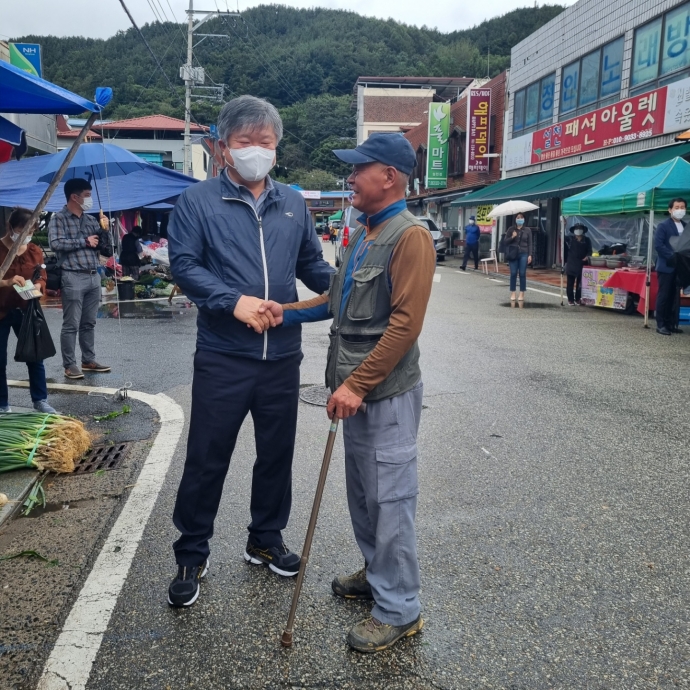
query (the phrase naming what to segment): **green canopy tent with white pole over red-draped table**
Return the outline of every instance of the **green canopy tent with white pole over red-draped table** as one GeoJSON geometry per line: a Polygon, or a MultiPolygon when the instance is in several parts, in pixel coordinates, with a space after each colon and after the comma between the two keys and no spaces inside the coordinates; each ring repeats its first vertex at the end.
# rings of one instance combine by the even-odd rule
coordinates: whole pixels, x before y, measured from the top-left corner
{"type": "MultiPolygon", "coordinates": [[[[564,216],[607,216],[619,213],[649,213],[647,243],[647,280],[645,289],[645,328],[649,324],[649,288],[651,285],[654,213],[664,212],[669,202],[690,190],[690,163],[683,158],[650,168],[628,166],[596,187],[565,199],[564,216]]],[[[561,237],[561,243],[564,238],[561,237]]]]}

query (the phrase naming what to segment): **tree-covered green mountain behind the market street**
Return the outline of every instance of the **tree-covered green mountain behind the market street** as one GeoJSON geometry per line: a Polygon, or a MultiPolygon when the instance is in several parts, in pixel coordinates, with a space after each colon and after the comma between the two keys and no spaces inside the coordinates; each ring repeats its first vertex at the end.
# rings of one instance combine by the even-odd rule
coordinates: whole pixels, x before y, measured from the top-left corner
{"type": "MultiPolygon", "coordinates": [[[[493,77],[509,66],[513,45],[563,9],[525,7],[471,29],[442,33],[343,10],[261,5],[241,17],[209,21],[203,33],[221,37],[197,38],[194,64],[204,67],[207,86],[226,85],[226,100],[251,93],[276,105],[285,123],[279,173],[300,181],[310,171],[311,188],[317,183],[329,188],[335,176],[346,172],[332,149],[354,145],[353,86],[359,76],[493,77]]],[[[50,81],[84,96],[97,86],[111,86],[107,118],[183,117],[179,68],[186,62],[186,26],[155,22],[143,26],[142,33],[167,79],[133,28],[105,40],[14,40],[43,46],[44,76],[50,81]]],[[[193,103],[192,114],[201,124],[211,124],[219,109],[220,104],[200,100],[193,103]]]]}

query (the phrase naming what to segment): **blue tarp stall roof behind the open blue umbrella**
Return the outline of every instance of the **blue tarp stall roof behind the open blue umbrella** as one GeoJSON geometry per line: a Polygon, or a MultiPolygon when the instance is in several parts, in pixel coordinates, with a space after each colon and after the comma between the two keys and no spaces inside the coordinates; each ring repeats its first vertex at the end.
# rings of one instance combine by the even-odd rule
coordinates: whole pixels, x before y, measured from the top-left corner
{"type": "MultiPolygon", "coordinates": [[[[60,154],[52,154],[57,156],[60,154]]],[[[38,182],[49,164],[50,156],[33,156],[0,165],[0,206],[35,208],[48,188],[38,182]]],[[[193,177],[158,165],[143,163],[143,168],[129,175],[92,180],[94,208],[125,211],[151,204],[175,203],[177,197],[197,182],[193,177]]],[[[59,211],[65,205],[63,184],[48,201],[46,211],[59,211]]]]}

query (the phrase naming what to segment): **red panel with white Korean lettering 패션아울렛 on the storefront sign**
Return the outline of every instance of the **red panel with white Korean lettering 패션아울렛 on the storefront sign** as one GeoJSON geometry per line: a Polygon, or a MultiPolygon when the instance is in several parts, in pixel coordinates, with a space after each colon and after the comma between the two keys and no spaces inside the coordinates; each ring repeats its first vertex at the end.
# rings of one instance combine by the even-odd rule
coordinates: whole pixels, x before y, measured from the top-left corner
{"type": "Polygon", "coordinates": [[[664,133],[667,87],[534,132],[532,165],[664,133]]]}

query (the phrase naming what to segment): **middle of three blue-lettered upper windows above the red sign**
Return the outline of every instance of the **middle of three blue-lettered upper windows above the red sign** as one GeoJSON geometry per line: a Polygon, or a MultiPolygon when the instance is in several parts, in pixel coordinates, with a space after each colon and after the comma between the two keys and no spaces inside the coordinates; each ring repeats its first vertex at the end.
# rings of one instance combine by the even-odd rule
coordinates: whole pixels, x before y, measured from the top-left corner
{"type": "Polygon", "coordinates": [[[561,74],[560,119],[580,115],[612,103],[621,91],[621,36],[566,65],[561,74]]]}

